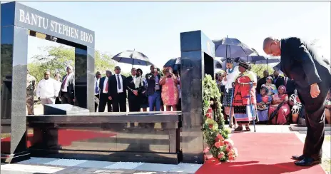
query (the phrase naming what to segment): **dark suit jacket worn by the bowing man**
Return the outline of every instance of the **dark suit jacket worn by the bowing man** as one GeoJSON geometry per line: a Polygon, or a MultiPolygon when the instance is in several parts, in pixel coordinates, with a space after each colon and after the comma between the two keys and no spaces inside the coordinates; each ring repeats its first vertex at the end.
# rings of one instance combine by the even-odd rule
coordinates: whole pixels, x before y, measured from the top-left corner
{"type": "MultiPolygon", "coordinates": [[[[330,83],[330,66],[299,38],[281,41],[280,70],[293,79],[297,89],[308,88],[313,83],[330,83]]],[[[329,87],[330,88],[330,87],[329,87]]]]}

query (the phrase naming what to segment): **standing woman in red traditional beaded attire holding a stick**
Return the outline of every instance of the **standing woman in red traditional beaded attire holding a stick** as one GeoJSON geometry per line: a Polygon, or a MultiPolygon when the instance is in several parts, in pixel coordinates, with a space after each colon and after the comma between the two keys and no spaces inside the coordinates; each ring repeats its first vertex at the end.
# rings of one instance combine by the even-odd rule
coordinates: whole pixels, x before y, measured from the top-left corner
{"type": "Polygon", "coordinates": [[[240,61],[240,73],[234,82],[233,108],[235,120],[238,123],[238,128],[235,128],[235,131],[243,131],[243,125],[245,125],[246,131],[250,131],[249,123],[256,118],[255,87],[257,79],[252,71],[247,70],[249,67],[249,63],[240,61]]]}

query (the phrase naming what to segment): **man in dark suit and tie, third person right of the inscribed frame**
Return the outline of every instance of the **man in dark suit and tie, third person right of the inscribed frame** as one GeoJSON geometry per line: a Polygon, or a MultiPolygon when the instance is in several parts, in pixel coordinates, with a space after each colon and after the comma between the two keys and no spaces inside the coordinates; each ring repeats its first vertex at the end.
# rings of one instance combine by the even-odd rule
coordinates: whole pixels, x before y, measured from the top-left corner
{"type": "Polygon", "coordinates": [[[108,98],[113,103],[113,112],[126,112],[126,76],[121,75],[119,66],[114,71],[108,79],[108,98]]]}

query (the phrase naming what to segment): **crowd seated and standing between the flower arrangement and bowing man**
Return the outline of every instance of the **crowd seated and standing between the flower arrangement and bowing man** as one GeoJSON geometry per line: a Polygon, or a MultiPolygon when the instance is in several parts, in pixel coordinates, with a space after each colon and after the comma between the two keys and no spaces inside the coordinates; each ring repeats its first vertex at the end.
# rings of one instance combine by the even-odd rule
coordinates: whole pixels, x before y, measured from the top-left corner
{"type": "MultiPolygon", "coordinates": [[[[249,71],[250,64],[239,61],[234,66],[233,58],[227,58],[226,71],[216,74],[216,82],[222,93],[223,114],[231,128],[242,131],[243,125],[250,131],[248,123],[284,125],[298,123],[305,118],[305,110],[295,89],[295,83],[278,71],[269,75],[263,72],[260,78],[249,71]],[[257,116],[257,118],[255,118],[257,116]]],[[[330,124],[331,94],[325,107],[325,121],[330,124]]]]}

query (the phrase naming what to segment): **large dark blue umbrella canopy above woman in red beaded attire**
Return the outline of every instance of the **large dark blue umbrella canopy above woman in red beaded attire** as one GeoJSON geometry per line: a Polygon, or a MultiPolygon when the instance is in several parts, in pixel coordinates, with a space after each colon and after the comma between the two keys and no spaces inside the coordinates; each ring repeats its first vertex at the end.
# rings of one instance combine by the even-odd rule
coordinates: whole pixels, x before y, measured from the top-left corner
{"type": "Polygon", "coordinates": [[[254,53],[252,48],[234,38],[226,37],[215,40],[213,43],[215,44],[215,56],[217,57],[245,57],[254,53]]]}

